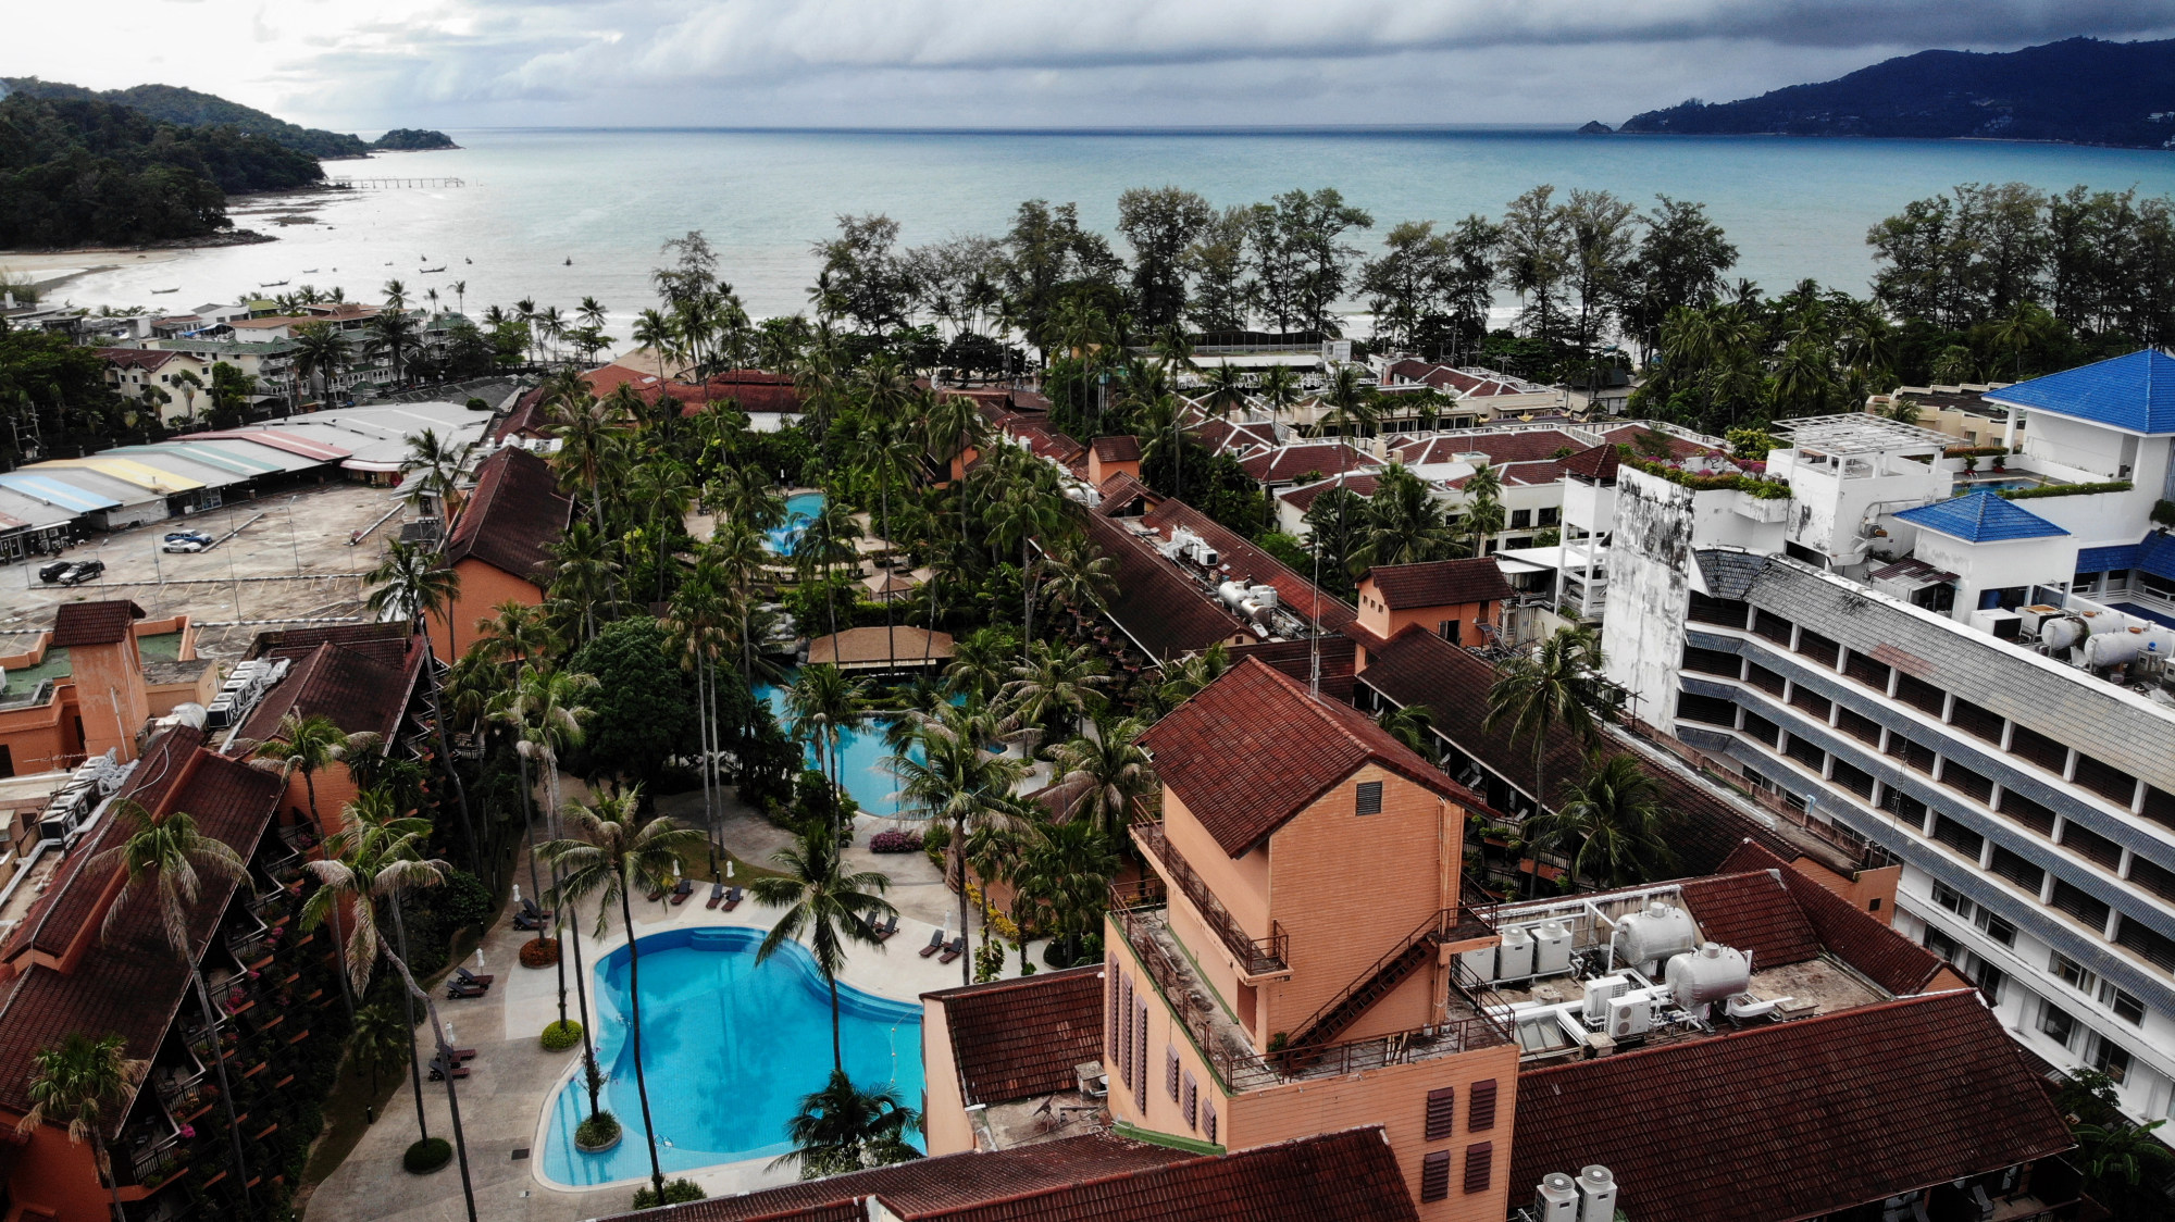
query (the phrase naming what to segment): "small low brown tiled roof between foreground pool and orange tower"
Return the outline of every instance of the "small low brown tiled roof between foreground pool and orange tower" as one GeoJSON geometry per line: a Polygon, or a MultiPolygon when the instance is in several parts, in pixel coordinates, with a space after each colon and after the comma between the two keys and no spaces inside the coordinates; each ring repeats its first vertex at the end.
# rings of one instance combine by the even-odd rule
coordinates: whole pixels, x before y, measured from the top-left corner
{"type": "Polygon", "coordinates": [[[1077,1089],[1072,1068],[1103,1059],[1103,968],[1044,972],[922,994],[944,1002],[959,1094],[1011,1102],[1077,1089]]]}

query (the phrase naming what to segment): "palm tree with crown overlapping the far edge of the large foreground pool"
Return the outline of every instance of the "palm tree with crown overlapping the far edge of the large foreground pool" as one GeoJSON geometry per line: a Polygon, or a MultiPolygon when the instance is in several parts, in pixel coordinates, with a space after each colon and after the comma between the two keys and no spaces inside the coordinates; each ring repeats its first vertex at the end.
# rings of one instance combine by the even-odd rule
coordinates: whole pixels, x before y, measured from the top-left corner
{"type": "Polygon", "coordinates": [[[846,946],[874,946],[883,950],[874,924],[896,915],[883,891],[892,878],[874,870],[846,870],[840,859],[837,831],[809,820],[794,835],[792,848],[770,855],[776,874],[761,874],[748,883],[755,902],[768,909],[785,909],[776,924],[755,948],[755,963],[776,955],[779,946],[807,935],[809,955],[816,959],[816,974],[831,989],[831,1068],[846,1072],[846,1052],[837,1031],[837,974],[846,970],[846,946]]]}

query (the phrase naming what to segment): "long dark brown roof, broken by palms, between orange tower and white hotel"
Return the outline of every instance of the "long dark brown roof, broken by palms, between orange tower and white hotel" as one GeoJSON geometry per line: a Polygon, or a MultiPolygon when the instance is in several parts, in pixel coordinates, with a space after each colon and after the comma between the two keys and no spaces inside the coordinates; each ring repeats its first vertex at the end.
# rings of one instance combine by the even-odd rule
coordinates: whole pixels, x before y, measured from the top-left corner
{"type": "MultiPolygon", "coordinates": [[[[1481,768],[1503,776],[1518,789],[1531,789],[1533,744],[1529,739],[1514,744],[1503,728],[1481,728],[1481,722],[1488,718],[1488,687],[1494,685],[1494,665],[1486,659],[1444,641],[1420,624],[1412,624],[1396,639],[1368,646],[1368,665],[1359,672],[1359,683],[1399,704],[1427,704],[1433,713],[1435,731],[1451,739],[1457,750],[1477,759],[1481,768]]],[[[1549,737],[1546,805],[1555,807],[1562,802],[1564,787],[1583,776],[1583,772],[1586,752],[1564,735],[1549,737]]],[[[1646,772],[1662,787],[1662,807],[1673,815],[1668,844],[1677,855],[1677,865],[1686,874],[1716,872],[1723,859],[1747,837],[1781,852],[1797,852],[1766,826],[1677,772],[1660,765],[1649,765],[1646,772]]],[[[1755,868],[1742,865],[1740,870],[1755,868]]]]}

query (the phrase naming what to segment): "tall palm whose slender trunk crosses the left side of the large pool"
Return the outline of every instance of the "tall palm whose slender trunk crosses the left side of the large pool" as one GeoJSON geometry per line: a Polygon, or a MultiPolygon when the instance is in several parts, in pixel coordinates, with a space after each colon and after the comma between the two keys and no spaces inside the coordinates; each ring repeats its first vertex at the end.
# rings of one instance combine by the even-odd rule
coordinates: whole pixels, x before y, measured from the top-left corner
{"type": "Polygon", "coordinates": [[[681,852],[703,841],[703,833],[683,828],[670,818],[655,818],[635,824],[642,807],[642,787],[629,785],[618,794],[602,794],[587,807],[570,807],[574,835],[537,846],[537,855],[559,870],[559,883],[550,889],[552,909],[598,900],[596,935],[602,937],[609,924],[613,900],[620,905],[620,926],[626,931],[626,1002],[629,1037],[635,1057],[635,1094],[642,1098],[642,1135],[650,1144],[650,1183],[663,1200],[666,1172],[657,1163],[657,1126],[650,1124],[650,1085],[642,1070],[642,946],[635,939],[633,891],[670,885],[672,868],[681,852]]]}

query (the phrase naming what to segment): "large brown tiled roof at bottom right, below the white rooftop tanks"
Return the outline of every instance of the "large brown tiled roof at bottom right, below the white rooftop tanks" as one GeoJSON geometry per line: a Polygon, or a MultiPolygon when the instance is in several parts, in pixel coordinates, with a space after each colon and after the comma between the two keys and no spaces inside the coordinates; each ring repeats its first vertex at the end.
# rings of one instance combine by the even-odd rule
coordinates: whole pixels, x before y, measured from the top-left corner
{"type": "Polygon", "coordinates": [[[1518,1074],[1509,1183],[1601,1163],[1640,1222],[1790,1220],[2071,1144],[1953,992],[1518,1074]]]}

